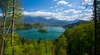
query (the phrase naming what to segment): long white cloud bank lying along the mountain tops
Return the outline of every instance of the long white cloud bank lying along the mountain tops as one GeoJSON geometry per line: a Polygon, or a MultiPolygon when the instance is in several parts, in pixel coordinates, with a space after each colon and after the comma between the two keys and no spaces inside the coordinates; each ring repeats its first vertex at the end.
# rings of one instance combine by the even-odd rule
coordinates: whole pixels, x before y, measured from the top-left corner
{"type": "MultiPolygon", "coordinates": [[[[24,15],[28,15],[31,17],[37,17],[41,16],[46,19],[58,19],[58,20],[66,20],[66,21],[73,21],[75,19],[81,19],[81,20],[89,20],[92,16],[92,13],[90,14],[79,14],[79,15],[72,15],[72,16],[66,16],[63,14],[64,12],[58,12],[58,13],[52,13],[52,12],[42,12],[42,11],[37,11],[37,12],[23,12],[24,15]]],[[[77,13],[77,12],[76,12],[77,13]]]]}

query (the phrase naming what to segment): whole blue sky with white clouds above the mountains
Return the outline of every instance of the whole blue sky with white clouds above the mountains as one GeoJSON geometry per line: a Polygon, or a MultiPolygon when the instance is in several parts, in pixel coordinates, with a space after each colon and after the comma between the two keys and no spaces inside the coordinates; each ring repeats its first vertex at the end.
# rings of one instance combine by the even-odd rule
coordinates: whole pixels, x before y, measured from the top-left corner
{"type": "Polygon", "coordinates": [[[93,14],[92,0],[24,0],[22,4],[23,14],[31,17],[73,21],[91,20],[93,14]]]}

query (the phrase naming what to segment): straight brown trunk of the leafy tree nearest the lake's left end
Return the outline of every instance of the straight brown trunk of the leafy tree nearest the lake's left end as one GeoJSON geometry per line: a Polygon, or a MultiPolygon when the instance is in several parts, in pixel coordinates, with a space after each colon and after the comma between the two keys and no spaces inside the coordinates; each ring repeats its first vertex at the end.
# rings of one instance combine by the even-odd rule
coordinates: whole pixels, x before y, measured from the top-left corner
{"type": "MultiPolygon", "coordinates": [[[[12,35],[11,35],[11,46],[13,47],[13,36],[14,36],[14,20],[15,20],[15,0],[13,1],[13,16],[12,16],[12,35]]],[[[14,49],[12,49],[12,54],[15,55],[14,49]]]]}

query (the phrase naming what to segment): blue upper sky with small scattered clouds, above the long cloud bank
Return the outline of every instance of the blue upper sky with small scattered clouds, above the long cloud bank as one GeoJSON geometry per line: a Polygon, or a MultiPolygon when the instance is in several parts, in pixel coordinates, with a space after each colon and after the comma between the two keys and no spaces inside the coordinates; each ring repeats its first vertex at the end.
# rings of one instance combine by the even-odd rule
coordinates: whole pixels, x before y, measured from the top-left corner
{"type": "Polygon", "coordinates": [[[26,6],[25,10],[29,12],[36,12],[36,11],[56,12],[57,11],[56,9],[61,9],[61,8],[63,8],[62,11],[69,9],[80,10],[80,8],[77,7],[81,5],[81,2],[82,2],[81,0],[25,0],[24,5],[26,6]],[[63,3],[61,4],[60,2],[63,3],[66,2],[66,4],[63,3]]]}

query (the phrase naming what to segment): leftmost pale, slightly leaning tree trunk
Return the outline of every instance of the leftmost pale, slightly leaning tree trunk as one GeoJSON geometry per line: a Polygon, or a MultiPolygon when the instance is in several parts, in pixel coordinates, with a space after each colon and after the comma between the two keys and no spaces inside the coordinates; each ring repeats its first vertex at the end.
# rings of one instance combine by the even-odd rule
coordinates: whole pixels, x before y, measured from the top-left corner
{"type": "MultiPolygon", "coordinates": [[[[3,1],[3,2],[6,2],[6,1],[3,1]]],[[[8,16],[8,11],[9,11],[9,3],[10,1],[7,3],[7,5],[5,6],[2,6],[2,11],[3,11],[3,33],[2,33],[2,46],[1,46],[1,55],[3,54],[3,48],[4,48],[4,53],[5,53],[5,26],[6,26],[6,19],[7,19],[7,16],[8,16]],[[3,7],[5,7],[6,9],[4,9],[3,7]]],[[[2,4],[2,3],[1,3],[2,4]]]]}

